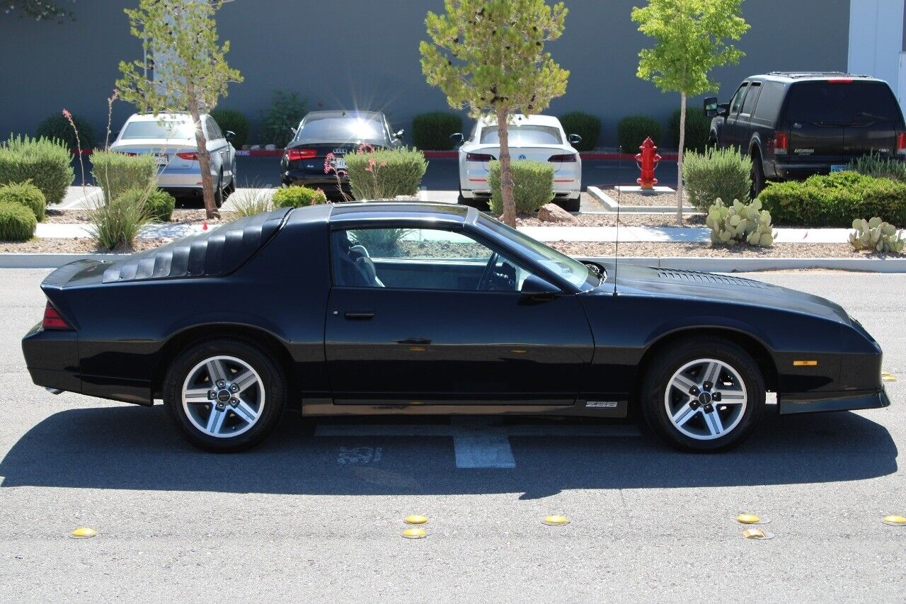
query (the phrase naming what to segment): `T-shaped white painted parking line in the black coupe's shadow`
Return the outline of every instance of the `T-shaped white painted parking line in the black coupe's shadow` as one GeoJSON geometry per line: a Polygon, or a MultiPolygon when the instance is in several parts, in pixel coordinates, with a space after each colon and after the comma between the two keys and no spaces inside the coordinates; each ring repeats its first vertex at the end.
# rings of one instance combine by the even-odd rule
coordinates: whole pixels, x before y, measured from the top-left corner
{"type": "Polygon", "coordinates": [[[641,436],[633,424],[602,425],[490,425],[473,417],[452,417],[440,424],[323,424],[315,436],[446,436],[453,438],[458,468],[515,468],[510,436],[593,436],[599,438],[641,436]]]}

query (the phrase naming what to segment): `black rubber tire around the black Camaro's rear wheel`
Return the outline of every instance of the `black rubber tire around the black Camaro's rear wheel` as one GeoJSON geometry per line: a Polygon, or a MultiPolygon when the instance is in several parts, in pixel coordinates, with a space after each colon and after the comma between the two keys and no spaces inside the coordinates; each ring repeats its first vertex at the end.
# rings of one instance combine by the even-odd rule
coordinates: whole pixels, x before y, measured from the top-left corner
{"type": "MultiPolygon", "coordinates": [[[[229,380],[229,376],[238,377],[242,375],[241,371],[233,373],[230,365],[223,366],[226,366],[227,380],[229,380]]],[[[236,367],[238,365],[232,366],[236,367]]],[[[206,388],[206,381],[209,380],[210,376],[206,375],[200,382],[195,382],[195,384],[206,388]]],[[[217,389],[217,385],[213,387],[215,390],[217,389]]],[[[230,382],[227,381],[226,389],[228,390],[229,387],[230,382]]],[[[247,390],[244,392],[247,392],[247,390]]],[[[255,446],[255,444],[263,441],[268,434],[274,431],[284,414],[286,382],[279,365],[275,363],[271,356],[257,347],[237,340],[214,339],[191,346],[174,359],[164,380],[163,395],[164,404],[167,407],[170,418],[179,427],[189,443],[206,451],[232,453],[255,446]],[[224,414],[225,419],[218,424],[222,426],[219,429],[225,433],[231,429],[240,430],[241,432],[236,436],[214,436],[208,434],[193,423],[193,418],[189,417],[187,407],[192,409],[194,414],[197,414],[194,417],[194,422],[205,421],[206,414],[209,419],[210,414],[215,411],[216,398],[210,404],[206,404],[205,401],[198,398],[198,404],[183,405],[183,386],[186,385],[190,374],[198,375],[197,371],[207,373],[206,369],[197,369],[198,366],[204,361],[216,357],[237,359],[251,367],[257,377],[260,378],[260,383],[255,382],[254,385],[250,386],[255,388],[255,392],[242,397],[247,399],[250,404],[256,405],[256,410],[259,414],[254,422],[243,420],[238,414],[238,410],[234,411],[231,408],[235,405],[226,403],[226,401],[223,403],[225,409],[221,413],[224,414]],[[262,395],[262,398],[258,398],[262,395]],[[248,424],[250,424],[250,427],[246,427],[248,424]]]]}

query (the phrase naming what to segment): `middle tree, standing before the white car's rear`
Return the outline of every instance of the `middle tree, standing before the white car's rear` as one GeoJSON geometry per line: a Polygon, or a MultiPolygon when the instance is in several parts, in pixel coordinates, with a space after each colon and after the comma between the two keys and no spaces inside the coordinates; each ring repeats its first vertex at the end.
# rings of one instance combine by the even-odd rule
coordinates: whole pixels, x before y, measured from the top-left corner
{"type": "Polygon", "coordinates": [[[421,70],[450,107],[496,116],[503,221],[515,227],[508,122],[516,112],[544,111],[566,92],[569,72],[545,53],[545,42],[563,34],[567,11],[544,0],[444,0],[444,8],[425,19],[431,42],[419,44],[421,70]]]}

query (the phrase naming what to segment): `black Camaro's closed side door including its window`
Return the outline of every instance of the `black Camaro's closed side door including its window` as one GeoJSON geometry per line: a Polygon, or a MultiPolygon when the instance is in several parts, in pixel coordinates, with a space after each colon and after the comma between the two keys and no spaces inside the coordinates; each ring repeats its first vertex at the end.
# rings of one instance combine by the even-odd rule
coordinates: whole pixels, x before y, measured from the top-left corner
{"type": "Polygon", "coordinates": [[[334,404],[574,403],[593,356],[574,294],[524,294],[536,276],[458,229],[337,229],[332,253],[334,404]]]}

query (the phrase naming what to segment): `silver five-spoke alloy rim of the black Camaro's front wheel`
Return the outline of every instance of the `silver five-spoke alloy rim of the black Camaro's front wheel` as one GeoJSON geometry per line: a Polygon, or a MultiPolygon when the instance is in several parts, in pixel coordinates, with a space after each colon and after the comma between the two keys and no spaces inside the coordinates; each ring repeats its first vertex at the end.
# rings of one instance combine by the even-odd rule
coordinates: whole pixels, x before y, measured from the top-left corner
{"type": "Polygon", "coordinates": [[[712,441],[737,427],[746,413],[746,384],[737,370],[713,358],[689,361],[664,392],[667,416],[681,434],[712,441]]]}

